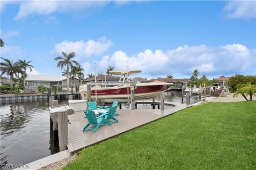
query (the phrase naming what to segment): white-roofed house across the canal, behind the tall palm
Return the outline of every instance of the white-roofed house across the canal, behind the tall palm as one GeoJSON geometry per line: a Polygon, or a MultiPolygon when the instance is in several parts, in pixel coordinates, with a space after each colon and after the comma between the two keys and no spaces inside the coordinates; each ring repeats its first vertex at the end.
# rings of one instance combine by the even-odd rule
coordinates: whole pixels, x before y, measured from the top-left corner
{"type": "MultiPolygon", "coordinates": [[[[71,85],[80,86],[83,80],[79,80],[77,77],[69,77],[69,89],[71,85]]],[[[62,89],[67,89],[67,77],[53,76],[53,75],[31,75],[28,74],[26,78],[26,89],[37,89],[39,85],[43,85],[47,88],[52,85],[58,85],[62,89]]]]}

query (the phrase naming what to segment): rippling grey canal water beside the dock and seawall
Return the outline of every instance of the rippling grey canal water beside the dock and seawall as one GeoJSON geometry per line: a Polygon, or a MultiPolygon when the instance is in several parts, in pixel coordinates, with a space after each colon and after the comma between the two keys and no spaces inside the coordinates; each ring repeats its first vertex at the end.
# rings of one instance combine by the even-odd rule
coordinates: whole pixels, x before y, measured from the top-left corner
{"type": "MultiPolygon", "coordinates": [[[[168,91],[164,96],[165,101],[181,103],[180,91],[168,91]]],[[[190,98],[191,103],[197,100],[198,97],[190,98]]],[[[59,104],[67,104],[67,100],[59,104]]],[[[48,107],[47,101],[0,106],[1,169],[27,164],[59,151],[52,145],[48,107]]]]}

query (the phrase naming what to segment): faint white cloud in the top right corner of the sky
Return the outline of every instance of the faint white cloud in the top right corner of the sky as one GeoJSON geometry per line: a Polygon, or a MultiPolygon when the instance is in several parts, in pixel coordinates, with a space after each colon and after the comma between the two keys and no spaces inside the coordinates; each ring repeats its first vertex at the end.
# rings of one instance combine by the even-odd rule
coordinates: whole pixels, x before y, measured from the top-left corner
{"type": "Polygon", "coordinates": [[[256,1],[229,1],[223,12],[227,19],[249,20],[256,17],[256,1]]]}

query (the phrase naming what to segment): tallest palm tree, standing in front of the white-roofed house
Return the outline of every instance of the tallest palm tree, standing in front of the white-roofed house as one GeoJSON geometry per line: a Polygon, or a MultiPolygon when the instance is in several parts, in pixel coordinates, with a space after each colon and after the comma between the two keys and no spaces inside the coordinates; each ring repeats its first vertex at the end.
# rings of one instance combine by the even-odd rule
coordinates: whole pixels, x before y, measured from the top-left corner
{"type": "Polygon", "coordinates": [[[78,63],[75,60],[72,60],[75,57],[75,52],[66,54],[62,52],[62,56],[55,57],[54,60],[57,61],[57,67],[63,69],[64,66],[67,66],[67,91],[69,91],[69,67],[73,66],[73,64],[78,63]]]}

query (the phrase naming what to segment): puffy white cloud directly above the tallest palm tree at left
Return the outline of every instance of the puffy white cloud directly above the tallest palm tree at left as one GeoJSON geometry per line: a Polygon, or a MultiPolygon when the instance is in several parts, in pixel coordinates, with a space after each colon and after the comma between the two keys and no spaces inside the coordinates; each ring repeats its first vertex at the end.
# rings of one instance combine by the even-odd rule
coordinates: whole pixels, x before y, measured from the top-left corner
{"type": "Polygon", "coordinates": [[[61,54],[62,52],[75,52],[78,60],[89,58],[92,55],[99,55],[106,52],[113,45],[111,40],[106,37],[101,37],[97,41],[92,39],[84,42],[80,41],[62,41],[55,45],[54,53],[61,54]]]}

